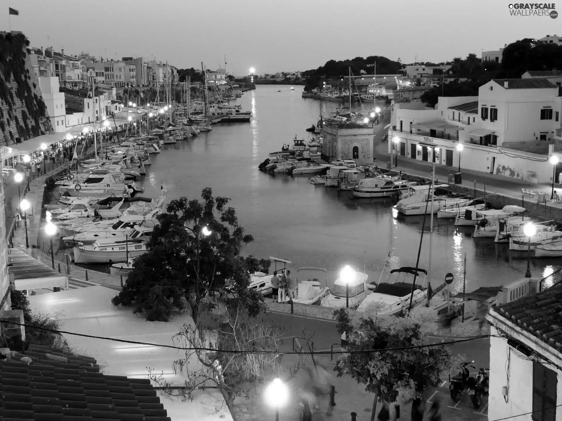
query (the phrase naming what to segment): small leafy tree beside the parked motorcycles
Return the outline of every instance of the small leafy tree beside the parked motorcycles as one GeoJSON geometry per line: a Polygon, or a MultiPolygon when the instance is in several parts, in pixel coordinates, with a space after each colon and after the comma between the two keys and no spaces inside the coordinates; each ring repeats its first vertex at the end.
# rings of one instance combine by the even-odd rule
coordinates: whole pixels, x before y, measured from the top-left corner
{"type": "Polygon", "coordinates": [[[443,346],[424,345],[425,334],[420,323],[394,316],[380,316],[376,312],[338,309],[334,312],[337,329],[346,333],[346,351],[339,356],[338,377],[350,374],[365,390],[374,393],[374,420],[377,401],[391,404],[398,393],[411,390],[414,399],[422,396],[426,386],[437,386],[443,370],[452,365],[450,351],[443,346]],[[412,347],[401,350],[369,351],[412,347]],[[362,351],[354,353],[353,351],[362,351]]]}

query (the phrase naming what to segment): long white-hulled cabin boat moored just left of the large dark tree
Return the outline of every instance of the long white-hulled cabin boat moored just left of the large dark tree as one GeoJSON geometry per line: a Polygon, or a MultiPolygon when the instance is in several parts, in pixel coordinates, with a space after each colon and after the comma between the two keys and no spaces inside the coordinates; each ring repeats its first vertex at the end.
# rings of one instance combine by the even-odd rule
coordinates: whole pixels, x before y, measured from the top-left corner
{"type": "Polygon", "coordinates": [[[128,258],[146,253],[146,245],[146,241],[128,239],[100,239],[93,244],[79,244],[73,248],[74,263],[126,262],[128,258]]]}

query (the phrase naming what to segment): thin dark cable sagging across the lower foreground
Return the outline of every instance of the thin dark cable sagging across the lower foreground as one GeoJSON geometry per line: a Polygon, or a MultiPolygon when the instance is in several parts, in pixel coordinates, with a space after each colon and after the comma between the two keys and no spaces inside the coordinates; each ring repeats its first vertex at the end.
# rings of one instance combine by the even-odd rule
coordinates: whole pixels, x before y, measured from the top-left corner
{"type": "MultiPolygon", "coordinates": [[[[26,324],[26,323],[16,323],[8,320],[0,319],[2,323],[11,323],[15,324],[16,326],[24,326],[29,328],[34,328],[46,332],[52,333],[61,333],[65,335],[74,335],[74,336],[81,336],[85,338],[92,338],[92,339],[102,339],[106,341],[114,341],[114,342],[123,342],[125,344],[134,344],[134,345],[146,345],[146,346],[157,346],[162,348],[171,348],[176,350],[182,351],[211,351],[211,352],[220,352],[220,353],[228,353],[228,354],[253,354],[253,355],[260,355],[260,354],[282,354],[282,355],[302,355],[302,354],[314,354],[314,355],[324,355],[324,354],[363,354],[363,353],[383,353],[386,351],[402,351],[402,350],[409,350],[409,349],[420,349],[420,348],[427,348],[430,346],[441,346],[441,345],[450,345],[450,344],[459,344],[460,342],[468,342],[474,341],[477,339],[488,338],[491,335],[480,335],[474,336],[466,339],[459,339],[454,341],[448,342],[438,342],[437,344],[424,344],[424,345],[414,345],[414,346],[401,346],[395,348],[383,348],[383,349],[366,349],[360,351],[239,351],[239,350],[227,350],[227,349],[214,349],[214,348],[206,348],[206,347],[184,347],[184,346],[175,346],[175,345],[164,345],[164,344],[151,344],[150,342],[139,342],[139,341],[128,341],[125,339],[119,338],[110,338],[107,336],[95,336],[95,335],[86,335],[85,333],[76,333],[76,332],[68,332],[68,331],[61,331],[56,329],[48,329],[46,327],[39,327],[34,326],[33,324],[26,324]]],[[[496,335],[493,335],[496,336],[496,335]]]]}

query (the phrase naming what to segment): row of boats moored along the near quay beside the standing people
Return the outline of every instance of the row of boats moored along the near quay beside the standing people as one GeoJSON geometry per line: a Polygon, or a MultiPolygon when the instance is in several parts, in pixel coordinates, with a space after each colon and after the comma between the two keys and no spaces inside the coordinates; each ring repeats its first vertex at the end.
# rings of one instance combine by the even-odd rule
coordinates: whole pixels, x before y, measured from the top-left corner
{"type": "MultiPolygon", "coordinates": [[[[270,257],[275,271],[282,275],[287,271],[289,260],[270,257]]],[[[324,268],[302,267],[296,271],[297,290],[294,302],[316,304],[330,308],[342,308],[347,304],[351,308],[369,310],[376,308],[378,314],[400,315],[407,312],[428,298],[427,271],[402,267],[393,269],[384,281],[369,282],[366,273],[353,272],[351,279],[338,278],[332,287],[327,283],[328,271],[324,268]],[[413,294],[412,294],[412,291],[413,294]]],[[[253,273],[250,288],[262,295],[269,295],[273,285],[273,275],[253,273]]],[[[289,297],[286,299],[290,300],[289,297]]]]}

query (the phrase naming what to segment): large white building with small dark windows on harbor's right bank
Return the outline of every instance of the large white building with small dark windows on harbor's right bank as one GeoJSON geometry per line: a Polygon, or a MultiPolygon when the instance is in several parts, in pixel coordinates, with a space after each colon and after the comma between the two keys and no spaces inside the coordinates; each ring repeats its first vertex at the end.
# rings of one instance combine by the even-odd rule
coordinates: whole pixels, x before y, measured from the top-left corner
{"type": "Polygon", "coordinates": [[[546,79],[492,80],[478,97],[439,98],[433,110],[399,106],[393,106],[391,133],[398,143],[389,142],[389,153],[450,167],[461,159],[469,170],[552,181],[547,159],[562,145],[562,97],[546,79]]]}

